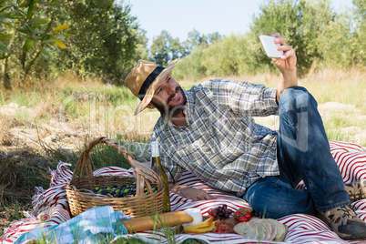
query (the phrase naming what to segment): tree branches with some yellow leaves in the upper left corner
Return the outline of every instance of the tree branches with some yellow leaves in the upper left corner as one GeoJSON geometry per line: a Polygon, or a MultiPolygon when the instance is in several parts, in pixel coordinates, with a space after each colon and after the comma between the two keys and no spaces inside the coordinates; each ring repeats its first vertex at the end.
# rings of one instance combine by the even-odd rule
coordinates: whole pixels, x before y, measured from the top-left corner
{"type": "Polygon", "coordinates": [[[58,0],[0,1],[0,58],[6,89],[12,88],[15,76],[25,81],[41,53],[50,57],[55,46],[66,47],[62,31],[68,25],[56,26],[54,21],[59,5],[58,0]]]}

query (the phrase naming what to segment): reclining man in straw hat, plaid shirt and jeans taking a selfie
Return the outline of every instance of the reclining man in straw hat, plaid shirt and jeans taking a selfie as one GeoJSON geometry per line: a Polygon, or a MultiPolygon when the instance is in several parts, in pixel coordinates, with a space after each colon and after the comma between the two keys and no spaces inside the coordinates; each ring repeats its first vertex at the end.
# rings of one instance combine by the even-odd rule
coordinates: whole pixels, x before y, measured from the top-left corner
{"type": "Polygon", "coordinates": [[[160,111],[151,139],[160,144],[169,189],[185,198],[212,199],[174,185],[188,170],[214,188],[243,196],[262,216],[317,215],[342,239],[366,239],[366,223],[350,208],[317,103],[298,86],[295,50],[279,33],[272,36],[284,52],[272,58],[280,69],[274,88],[216,79],[186,91],[171,76],[176,60],[166,68],[140,60],[127,76],[125,85],[141,99],[135,114],[145,107],[160,111]],[[275,114],[279,131],[252,118],[275,114]],[[307,188],[295,189],[301,179],[307,188]]]}

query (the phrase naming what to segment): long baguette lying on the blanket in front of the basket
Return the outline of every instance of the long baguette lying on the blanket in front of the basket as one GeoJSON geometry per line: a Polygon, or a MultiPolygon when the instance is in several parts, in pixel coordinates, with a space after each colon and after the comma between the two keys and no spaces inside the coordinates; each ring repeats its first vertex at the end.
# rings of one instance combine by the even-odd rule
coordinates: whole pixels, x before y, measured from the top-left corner
{"type": "Polygon", "coordinates": [[[144,230],[159,229],[162,227],[172,227],[193,222],[193,218],[186,212],[168,212],[155,216],[137,217],[124,220],[122,224],[128,233],[135,233],[144,230]]]}

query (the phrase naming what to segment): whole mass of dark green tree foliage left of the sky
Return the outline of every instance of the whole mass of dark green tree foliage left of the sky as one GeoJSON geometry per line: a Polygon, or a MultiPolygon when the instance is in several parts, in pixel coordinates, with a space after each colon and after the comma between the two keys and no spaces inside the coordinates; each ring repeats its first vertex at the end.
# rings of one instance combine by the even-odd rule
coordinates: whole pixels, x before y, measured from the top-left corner
{"type": "Polygon", "coordinates": [[[24,84],[30,77],[37,86],[67,70],[121,85],[147,56],[146,43],[123,1],[0,0],[0,57],[8,89],[14,80],[24,84]]]}

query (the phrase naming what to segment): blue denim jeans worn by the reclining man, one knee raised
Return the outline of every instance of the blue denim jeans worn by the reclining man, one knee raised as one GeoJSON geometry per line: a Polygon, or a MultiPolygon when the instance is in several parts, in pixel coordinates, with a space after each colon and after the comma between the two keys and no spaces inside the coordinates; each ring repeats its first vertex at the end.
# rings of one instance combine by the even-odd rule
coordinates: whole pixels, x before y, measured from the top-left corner
{"type": "Polygon", "coordinates": [[[247,189],[243,198],[250,207],[278,219],[350,205],[314,97],[300,86],[286,89],[280,96],[279,115],[280,176],[260,178],[247,189]],[[301,179],[306,189],[295,189],[301,179]]]}

